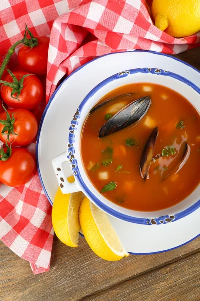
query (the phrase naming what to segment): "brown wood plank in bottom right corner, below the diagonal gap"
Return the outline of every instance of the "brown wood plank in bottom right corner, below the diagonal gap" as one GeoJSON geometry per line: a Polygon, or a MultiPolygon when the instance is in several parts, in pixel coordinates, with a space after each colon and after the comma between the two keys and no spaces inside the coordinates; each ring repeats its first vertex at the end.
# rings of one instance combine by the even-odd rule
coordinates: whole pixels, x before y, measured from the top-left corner
{"type": "Polygon", "coordinates": [[[199,301],[200,253],[81,301],[199,301]]]}

